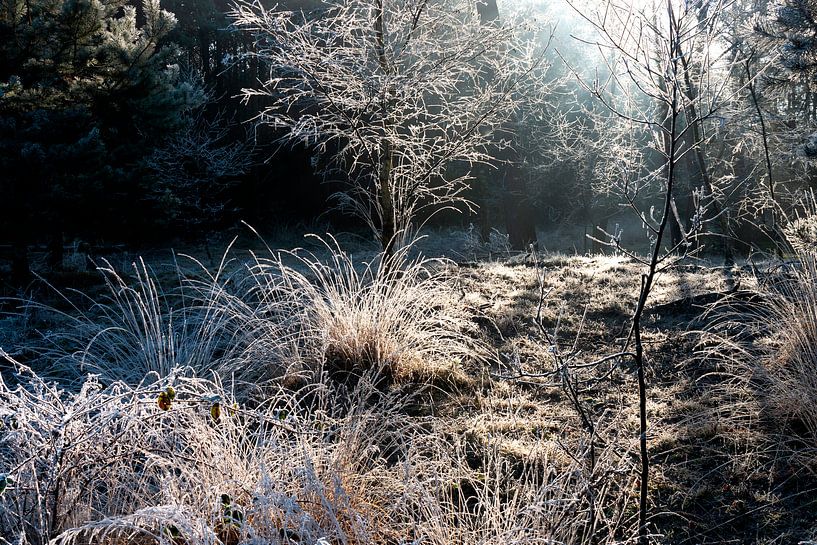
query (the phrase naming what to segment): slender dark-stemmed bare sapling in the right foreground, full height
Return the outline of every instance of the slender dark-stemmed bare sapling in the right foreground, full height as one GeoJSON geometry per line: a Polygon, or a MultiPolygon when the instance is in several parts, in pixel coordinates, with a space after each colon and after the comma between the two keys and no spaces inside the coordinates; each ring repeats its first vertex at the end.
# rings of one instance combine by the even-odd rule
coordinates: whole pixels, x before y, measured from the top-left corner
{"type": "MultiPolygon", "coordinates": [[[[708,172],[705,161],[701,161],[706,128],[728,98],[726,80],[709,77],[711,66],[707,62],[722,7],[718,0],[706,6],[701,2],[663,0],[653,9],[636,9],[629,2],[607,0],[597,9],[576,8],[597,31],[598,37],[590,43],[599,48],[609,74],[604,80],[587,82],[587,89],[610,112],[652,134],[653,153],[660,157],[655,169],[632,165],[623,169],[629,175],[620,188],[625,206],[647,230],[647,255],[623,248],[617,233],[607,233],[609,239],[603,241],[643,263],[645,269],[630,333],[618,352],[621,359],[633,360],[637,372],[641,457],[638,537],[642,545],[649,541],[650,519],[647,355],[642,318],[657,275],[691,251],[694,239],[704,232],[706,224],[719,222],[723,213],[707,212],[708,207],[717,208],[713,206],[709,179],[702,180],[702,186],[694,192],[691,217],[681,218],[675,203],[678,167],[687,155],[694,154],[702,174],[708,172]],[[681,236],[678,242],[667,244],[667,231],[673,222],[681,236]]],[[[632,160],[621,158],[624,164],[632,160]]],[[[640,162],[641,158],[635,160],[640,162]]]]}

